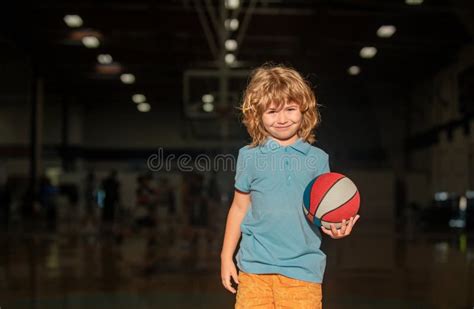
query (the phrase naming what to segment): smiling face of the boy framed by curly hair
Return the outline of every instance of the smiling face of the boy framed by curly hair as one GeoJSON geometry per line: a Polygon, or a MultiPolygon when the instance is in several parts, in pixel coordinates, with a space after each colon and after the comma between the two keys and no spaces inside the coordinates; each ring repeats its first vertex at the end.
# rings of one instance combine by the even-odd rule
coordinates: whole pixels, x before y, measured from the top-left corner
{"type": "Polygon", "coordinates": [[[262,115],[265,130],[280,142],[291,144],[298,138],[303,115],[295,102],[289,102],[279,109],[272,103],[262,115]]]}

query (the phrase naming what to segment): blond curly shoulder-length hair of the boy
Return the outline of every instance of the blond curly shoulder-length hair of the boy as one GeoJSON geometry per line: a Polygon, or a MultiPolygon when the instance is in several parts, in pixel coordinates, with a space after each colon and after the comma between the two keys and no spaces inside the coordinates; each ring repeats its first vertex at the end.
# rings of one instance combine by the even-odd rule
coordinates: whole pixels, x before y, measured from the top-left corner
{"type": "Polygon", "coordinates": [[[303,115],[298,136],[313,143],[320,115],[309,83],[296,70],[283,65],[264,64],[251,73],[240,107],[242,122],[252,137],[251,146],[261,145],[268,136],[262,123],[265,110],[272,103],[279,109],[289,102],[298,104],[303,115]]]}

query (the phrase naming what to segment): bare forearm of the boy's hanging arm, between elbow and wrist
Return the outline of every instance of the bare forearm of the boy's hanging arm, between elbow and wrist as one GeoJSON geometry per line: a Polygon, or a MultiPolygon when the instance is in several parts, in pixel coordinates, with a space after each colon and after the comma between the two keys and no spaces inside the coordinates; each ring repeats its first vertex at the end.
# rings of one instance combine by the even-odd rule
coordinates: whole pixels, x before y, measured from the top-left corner
{"type": "Polygon", "coordinates": [[[240,224],[245,217],[246,209],[232,206],[227,215],[227,223],[222,246],[221,259],[232,259],[235,248],[239,242],[241,231],[240,224]]]}

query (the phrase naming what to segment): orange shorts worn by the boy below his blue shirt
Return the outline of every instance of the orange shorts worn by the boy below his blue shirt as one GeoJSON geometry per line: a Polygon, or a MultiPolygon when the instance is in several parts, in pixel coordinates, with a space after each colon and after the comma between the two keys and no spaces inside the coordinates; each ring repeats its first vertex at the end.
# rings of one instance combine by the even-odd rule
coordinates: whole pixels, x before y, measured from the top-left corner
{"type": "Polygon", "coordinates": [[[236,309],[321,309],[320,283],[301,281],[278,274],[239,273],[236,309]]]}

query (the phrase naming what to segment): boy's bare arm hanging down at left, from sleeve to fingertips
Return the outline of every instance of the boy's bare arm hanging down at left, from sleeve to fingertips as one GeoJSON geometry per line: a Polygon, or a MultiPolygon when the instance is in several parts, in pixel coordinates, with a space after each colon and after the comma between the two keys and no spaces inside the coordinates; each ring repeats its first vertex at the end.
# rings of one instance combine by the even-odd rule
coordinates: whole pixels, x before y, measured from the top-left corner
{"type": "Polygon", "coordinates": [[[237,269],[233,256],[237,243],[239,242],[241,231],[240,224],[250,206],[250,194],[235,190],[234,199],[227,215],[224,243],[221,252],[221,278],[224,287],[232,293],[236,290],[232,287],[231,277],[235,283],[239,284],[237,269]]]}

